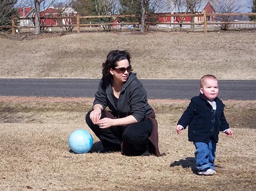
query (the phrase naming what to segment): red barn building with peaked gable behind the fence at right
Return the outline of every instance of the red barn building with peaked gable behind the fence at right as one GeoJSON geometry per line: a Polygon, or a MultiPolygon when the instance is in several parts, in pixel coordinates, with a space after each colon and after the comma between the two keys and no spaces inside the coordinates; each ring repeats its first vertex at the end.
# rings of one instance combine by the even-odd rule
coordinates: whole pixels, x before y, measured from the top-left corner
{"type": "MultiPolygon", "coordinates": [[[[211,6],[211,4],[209,2],[205,2],[202,3],[201,6],[198,8],[197,13],[196,14],[202,14],[203,12],[206,13],[214,13],[214,8],[211,6]]],[[[162,23],[180,23],[180,20],[183,19],[183,23],[190,23],[191,21],[191,17],[179,17],[179,16],[174,16],[173,18],[171,18],[170,16],[165,16],[167,14],[171,14],[169,13],[159,13],[159,17],[158,17],[158,21],[162,22],[162,23]]],[[[180,15],[180,14],[190,14],[190,13],[186,13],[186,7],[182,7],[180,9],[178,8],[174,8],[174,12],[172,13],[174,15],[180,15]]],[[[202,22],[204,21],[204,17],[202,16],[198,16],[198,17],[194,17],[194,22],[202,22]]],[[[214,21],[214,16],[207,16],[207,21],[214,21]]]]}

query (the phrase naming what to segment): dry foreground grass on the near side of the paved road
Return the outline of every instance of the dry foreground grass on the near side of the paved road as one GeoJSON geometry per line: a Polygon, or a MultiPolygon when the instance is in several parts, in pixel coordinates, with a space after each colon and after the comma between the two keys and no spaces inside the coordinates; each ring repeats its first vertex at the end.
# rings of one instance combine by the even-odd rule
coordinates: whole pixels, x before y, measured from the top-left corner
{"type": "Polygon", "coordinates": [[[70,133],[91,132],[83,120],[91,98],[0,97],[0,190],[256,189],[255,102],[225,101],[235,136],[220,134],[217,174],[207,177],[193,172],[195,149],[187,131],[175,131],[189,100],[149,102],[156,109],[160,149],[167,153],[160,158],[97,153],[101,143],[93,133],[94,152],[70,153],[70,133]]]}

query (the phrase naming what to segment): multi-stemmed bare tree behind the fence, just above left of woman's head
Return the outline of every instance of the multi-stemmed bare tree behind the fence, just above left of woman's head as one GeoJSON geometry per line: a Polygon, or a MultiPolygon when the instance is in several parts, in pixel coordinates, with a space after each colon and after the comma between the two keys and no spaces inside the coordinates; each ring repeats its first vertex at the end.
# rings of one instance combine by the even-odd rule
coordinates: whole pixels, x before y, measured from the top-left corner
{"type": "MultiPolygon", "coordinates": [[[[95,0],[95,8],[98,15],[116,15],[119,10],[118,0],[95,0]]],[[[99,18],[100,23],[112,23],[114,18],[103,17],[99,18]]],[[[111,25],[102,25],[104,31],[111,31],[111,25]]]]}

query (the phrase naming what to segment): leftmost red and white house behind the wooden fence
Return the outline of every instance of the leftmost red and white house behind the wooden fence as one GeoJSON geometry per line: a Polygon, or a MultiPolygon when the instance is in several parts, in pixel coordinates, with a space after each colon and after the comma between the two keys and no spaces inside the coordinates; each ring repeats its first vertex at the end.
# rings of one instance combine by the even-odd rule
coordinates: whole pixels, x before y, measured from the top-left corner
{"type": "MultiPolygon", "coordinates": [[[[33,7],[19,7],[17,8],[18,17],[20,18],[28,18],[33,17],[35,13],[35,9],[33,7]]],[[[33,20],[30,19],[23,19],[19,20],[20,26],[33,26],[33,20]]]]}

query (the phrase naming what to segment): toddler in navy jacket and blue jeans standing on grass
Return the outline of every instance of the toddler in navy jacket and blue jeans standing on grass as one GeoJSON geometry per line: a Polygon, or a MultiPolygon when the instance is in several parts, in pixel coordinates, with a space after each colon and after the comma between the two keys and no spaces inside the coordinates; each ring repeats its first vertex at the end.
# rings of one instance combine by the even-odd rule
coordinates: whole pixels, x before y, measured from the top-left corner
{"type": "Polygon", "coordinates": [[[225,105],[218,94],[217,78],[213,75],[203,76],[200,80],[200,95],[191,98],[176,127],[177,133],[180,133],[188,126],[188,140],[193,141],[196,147],[195,159],[199,175],[216,173],[214,161],[219,131],[233,137],[223,113],[225,105]]]}

